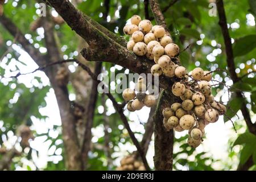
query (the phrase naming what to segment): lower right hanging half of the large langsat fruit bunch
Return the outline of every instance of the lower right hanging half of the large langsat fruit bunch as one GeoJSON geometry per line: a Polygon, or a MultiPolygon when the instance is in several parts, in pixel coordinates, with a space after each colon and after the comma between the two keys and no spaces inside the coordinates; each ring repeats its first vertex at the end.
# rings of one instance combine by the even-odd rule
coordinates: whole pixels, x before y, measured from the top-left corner
{"type": "Polygon", "coordinates": [[[209,71],[195,68],[189,75],[191,80],[185,75],[188,74],[184,68],[182,71],[175,69],[175,76],[181,79],[172,85],[172,93],[183,102],[174,103],[171,108],[163,109],[163,123],[167,130],[188,130],[189,146],[197,147],[203,140],[205,126],[216,122],[219,115],[225,114],[226,107],[214,101],[212,87],[209,84],[212,75],[209,71]]]}

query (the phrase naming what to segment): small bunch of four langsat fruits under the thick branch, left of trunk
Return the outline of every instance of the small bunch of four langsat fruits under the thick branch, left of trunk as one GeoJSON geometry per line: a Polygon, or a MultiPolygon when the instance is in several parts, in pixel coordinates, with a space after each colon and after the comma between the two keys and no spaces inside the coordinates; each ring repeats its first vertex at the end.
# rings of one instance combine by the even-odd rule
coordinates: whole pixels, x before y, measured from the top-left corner
{"type": "Polygon", "coordinates": [[[131,112],[141,110],[143,106],[152,107],[156,104],[156,98],[152,94],[146,94],[146,78],[139,76],[134,89],[123,90],[122,96],[127,103],[127,109],[131,112]]]}

